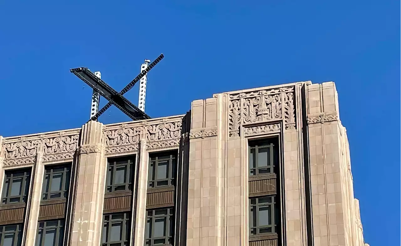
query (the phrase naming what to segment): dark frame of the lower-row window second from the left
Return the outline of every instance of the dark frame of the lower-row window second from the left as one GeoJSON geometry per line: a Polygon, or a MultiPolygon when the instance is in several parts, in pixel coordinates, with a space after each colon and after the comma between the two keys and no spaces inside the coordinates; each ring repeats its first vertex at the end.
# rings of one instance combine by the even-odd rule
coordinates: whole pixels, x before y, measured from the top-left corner
{"type": "Polygon", "coordinates": [[[35,246],[45,246],[46,232],[50,231],[50,230],[56,230],[55,242],[54,242],[55,246],[64,245],[65,220],[64,219],[55,219],[55,220],[38,221],[38,232],[37,232],[35,246]],[[47,223],[50,223],[50,222],[57,222],[57,225],[49,225],[48,226],[47,223]],[[41,224],[43,224],[43,225],[41,225],[41,224]]]}

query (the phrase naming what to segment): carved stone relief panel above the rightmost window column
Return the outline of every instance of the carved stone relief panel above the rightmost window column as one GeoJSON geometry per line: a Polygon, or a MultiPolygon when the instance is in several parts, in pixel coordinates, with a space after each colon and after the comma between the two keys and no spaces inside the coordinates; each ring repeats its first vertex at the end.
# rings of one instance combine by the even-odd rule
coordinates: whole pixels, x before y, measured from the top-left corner
{"type": "Polygon", "coordinates": [[[295,128],[294,86],[230,94],[230,137],[239,136],[242,124],[285,120],[295,128]]]}

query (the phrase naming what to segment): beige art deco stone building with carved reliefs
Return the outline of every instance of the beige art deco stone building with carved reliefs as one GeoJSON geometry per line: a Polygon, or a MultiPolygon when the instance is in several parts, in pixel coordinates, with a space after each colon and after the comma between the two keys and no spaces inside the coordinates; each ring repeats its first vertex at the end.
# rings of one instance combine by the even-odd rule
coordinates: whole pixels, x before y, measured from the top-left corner
{"type": "Polygon", "coordinates": [[[333,82],[0,144],[0,246],[367,245],[333,82]]]}

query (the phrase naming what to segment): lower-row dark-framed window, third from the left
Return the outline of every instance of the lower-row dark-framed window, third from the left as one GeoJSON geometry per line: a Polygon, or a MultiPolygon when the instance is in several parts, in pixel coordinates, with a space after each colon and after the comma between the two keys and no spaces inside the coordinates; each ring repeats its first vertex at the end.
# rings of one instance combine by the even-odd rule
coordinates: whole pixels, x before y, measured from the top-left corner
{"type": "Polygon", "coordinates": [[[131,213],[103,215],[102,246],[128,246],[130,244],[131,213]]]}

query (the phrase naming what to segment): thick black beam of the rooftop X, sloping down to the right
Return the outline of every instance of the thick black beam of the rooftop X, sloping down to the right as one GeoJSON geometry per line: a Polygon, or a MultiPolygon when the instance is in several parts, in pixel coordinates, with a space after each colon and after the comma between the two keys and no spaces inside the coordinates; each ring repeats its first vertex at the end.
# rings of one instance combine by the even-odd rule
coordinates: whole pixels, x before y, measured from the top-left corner
{"type": "Polygon", "coordinates": [[[146,115],[144,112],[138,109],[138,107],[132,104],[132,102],[130,102],[127,98],[125,98],[124,96],[119,94],[116,90],[111,88],[103,80],[97,78],[95,74],[93,74],[89,69],[73,68],[70,69],[70,71],[71,73],[75,74],[78,78],[83,80],[83,82],[91,86],[93,90],[99,92],[99,94],[101,94],[104,98],[109,100],[111,104],[115,105],[115,107],[123,111],[134,121],[142,119],[150,119],[149,115],[146,115]]]}

